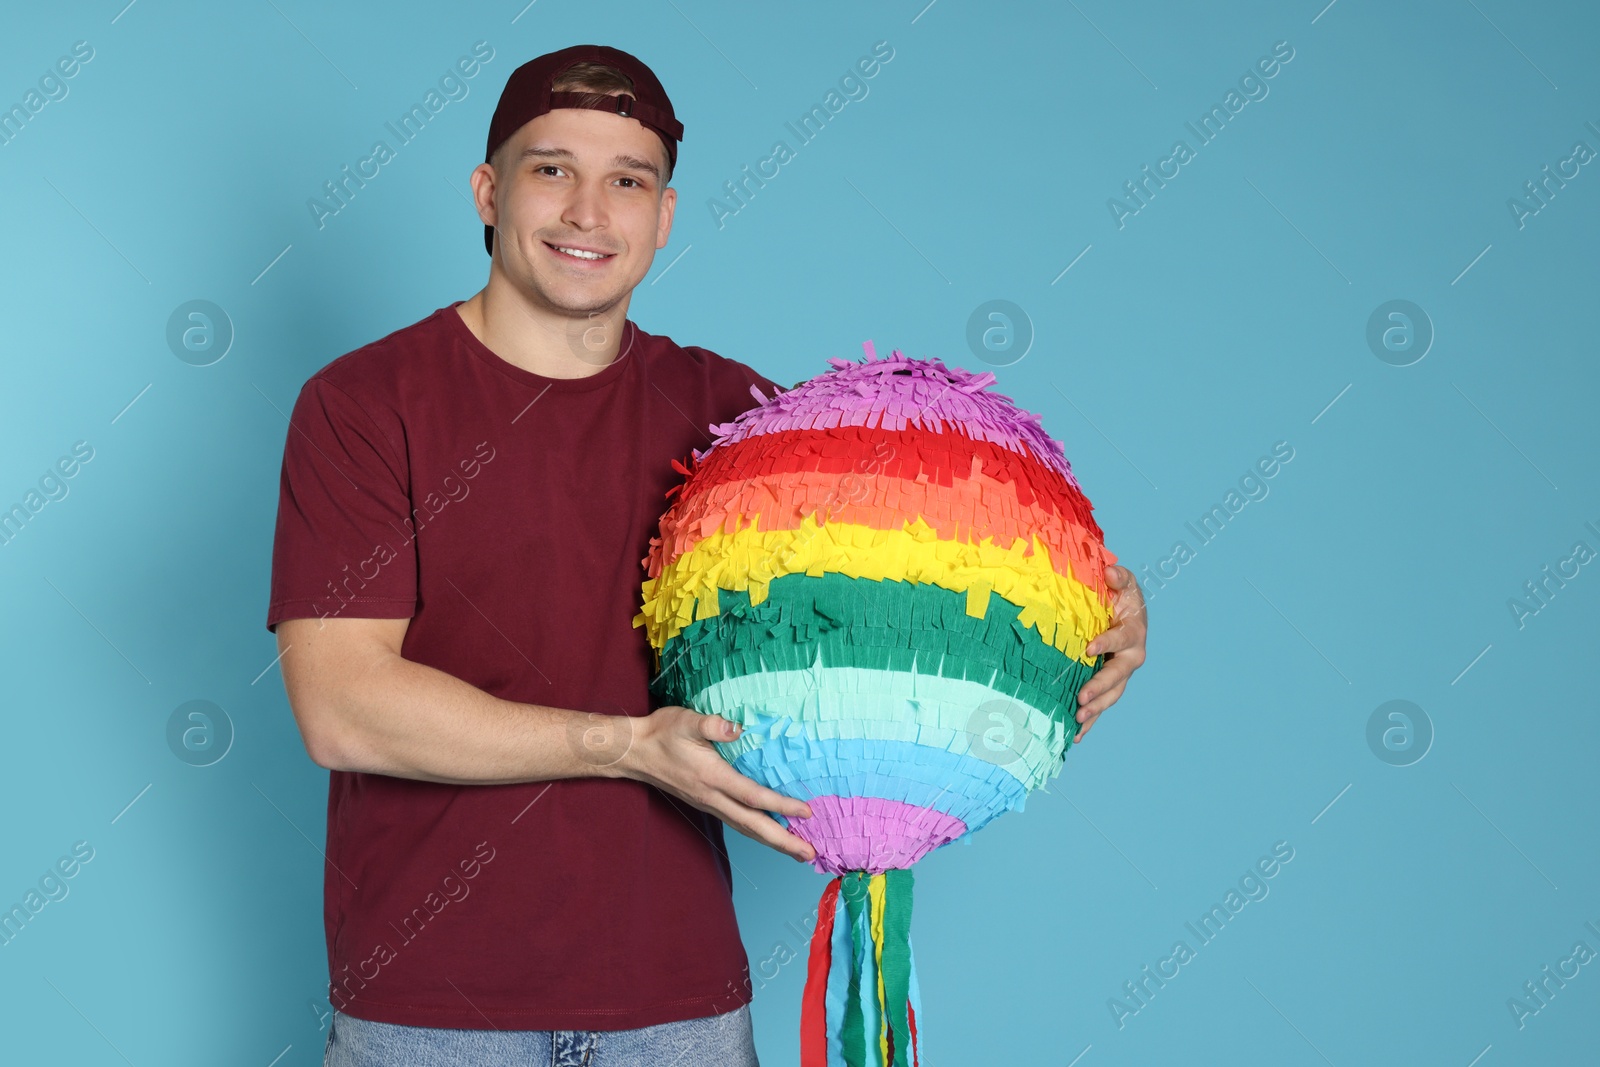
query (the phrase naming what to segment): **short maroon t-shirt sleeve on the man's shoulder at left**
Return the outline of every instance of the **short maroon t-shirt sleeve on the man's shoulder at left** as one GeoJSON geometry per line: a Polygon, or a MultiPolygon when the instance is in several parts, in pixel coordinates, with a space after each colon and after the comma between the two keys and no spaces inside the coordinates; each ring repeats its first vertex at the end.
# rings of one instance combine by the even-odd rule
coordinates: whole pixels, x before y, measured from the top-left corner
{"type": "Polygon", "coordinates": [[[405,458],[349,394],[301,387],[283,442],[267,629],[283,619],[410,619],[416,549],[405,458]]]}

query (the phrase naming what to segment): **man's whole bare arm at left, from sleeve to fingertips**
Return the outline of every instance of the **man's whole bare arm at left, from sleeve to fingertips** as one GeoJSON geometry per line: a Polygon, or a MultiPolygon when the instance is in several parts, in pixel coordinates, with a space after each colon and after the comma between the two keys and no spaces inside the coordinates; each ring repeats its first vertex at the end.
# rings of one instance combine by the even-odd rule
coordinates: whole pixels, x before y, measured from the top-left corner
{"type": "Polygon", "coordinates": [[[814,849],[768,811],[811,808],[734,771],[712,741],[736,723],[685,707],[597,715],[502,701],[400,654],[410,619],[285,619],[283,685],[318,766],[426,782],[493,785],[630,777],[709,811],[739,833],[808,861],[814,849]]]}

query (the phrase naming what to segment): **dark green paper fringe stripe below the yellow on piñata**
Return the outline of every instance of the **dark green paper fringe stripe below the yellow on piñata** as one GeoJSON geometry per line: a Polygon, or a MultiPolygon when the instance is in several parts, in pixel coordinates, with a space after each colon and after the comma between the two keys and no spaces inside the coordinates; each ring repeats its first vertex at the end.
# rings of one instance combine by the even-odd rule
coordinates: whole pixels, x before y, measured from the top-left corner
{"type": "Polygon", "coordinates": [[[827,573],[784,574],[766,600],[718,590],[720,614],[667,641],[651,691],[662,704],[690,705],[722,681],[770,670],[869,667],[965,678],[1040,709],[1075,729],[1077,693],[1099,665],[1046,645],[1018,622],[1021,608],[998,593],[982,619],[966,614],[966,593],[920,582],[827,573]]]}

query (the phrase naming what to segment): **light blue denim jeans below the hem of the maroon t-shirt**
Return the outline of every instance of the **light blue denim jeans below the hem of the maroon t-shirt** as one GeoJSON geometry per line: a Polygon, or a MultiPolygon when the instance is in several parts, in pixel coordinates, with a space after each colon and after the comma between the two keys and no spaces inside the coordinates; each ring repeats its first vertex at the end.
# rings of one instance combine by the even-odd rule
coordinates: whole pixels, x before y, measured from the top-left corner
{"type": "Polygon", "coordinates": [[[342,1011],[323,1067],[760,1067],[750,1006],[637,1030],[442,1030],[342,1011]]]}

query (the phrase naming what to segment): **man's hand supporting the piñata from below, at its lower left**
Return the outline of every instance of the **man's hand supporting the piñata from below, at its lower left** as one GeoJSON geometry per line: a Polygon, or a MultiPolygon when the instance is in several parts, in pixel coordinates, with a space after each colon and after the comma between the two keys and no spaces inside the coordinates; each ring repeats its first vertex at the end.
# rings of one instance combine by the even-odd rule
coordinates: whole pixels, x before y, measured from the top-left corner
{"type": "Polygon", "coordinates": [[[811,806],[739,774],[712,747],[712,741],[738,737],[738,723],[667,705],[627,725],[632,737],[611,765],[616,776],[648,782],[797,861],[816,856],[811,845],[766,814],[776,811],[789,819],[810,819],[811,806]]]}

